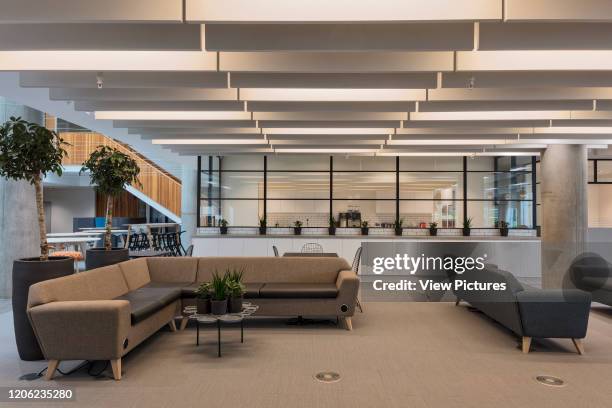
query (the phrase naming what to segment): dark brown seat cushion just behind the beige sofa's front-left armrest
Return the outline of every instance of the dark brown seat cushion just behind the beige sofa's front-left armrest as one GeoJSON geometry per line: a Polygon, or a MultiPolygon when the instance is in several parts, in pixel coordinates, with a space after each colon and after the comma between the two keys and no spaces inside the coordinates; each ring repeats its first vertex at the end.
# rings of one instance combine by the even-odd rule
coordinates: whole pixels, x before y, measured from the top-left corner
{"type": "Polygon", "coordinates": [[[180,296],[180,287],[146,285],[118,296],[115,300],[130,302],[130,318],[132,325],[135,325],[179,299],[180,296]]]}

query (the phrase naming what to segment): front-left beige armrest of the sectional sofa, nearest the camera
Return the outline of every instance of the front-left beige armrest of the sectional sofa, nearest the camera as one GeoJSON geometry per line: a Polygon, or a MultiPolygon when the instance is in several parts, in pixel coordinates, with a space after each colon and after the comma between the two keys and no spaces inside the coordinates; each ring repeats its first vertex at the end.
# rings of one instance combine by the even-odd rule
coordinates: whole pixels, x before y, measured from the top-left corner
{"type": "Polygon", "coordinates": [[[130,302],[87,300],[51,302],[28,310],[47,359],[121,358],[130,329],[130,302]]]}

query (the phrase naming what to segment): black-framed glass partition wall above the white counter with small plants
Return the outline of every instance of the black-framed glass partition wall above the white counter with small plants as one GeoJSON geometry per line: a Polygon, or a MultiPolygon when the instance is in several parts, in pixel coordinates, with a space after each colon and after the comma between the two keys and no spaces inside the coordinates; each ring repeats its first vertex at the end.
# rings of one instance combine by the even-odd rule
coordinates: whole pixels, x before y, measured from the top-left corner
{"type": "Polygon", "coordinates": [[[536,158],[204,156],[199,227],[535,228],[536,158]]]}

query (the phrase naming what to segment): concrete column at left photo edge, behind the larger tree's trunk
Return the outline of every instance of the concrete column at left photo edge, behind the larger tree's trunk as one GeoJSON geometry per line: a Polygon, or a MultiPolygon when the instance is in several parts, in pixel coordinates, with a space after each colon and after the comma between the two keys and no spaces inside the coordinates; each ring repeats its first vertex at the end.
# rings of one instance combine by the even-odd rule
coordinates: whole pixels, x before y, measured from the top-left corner
{"type": "Polygon", "coordinates": [[[13,261],[40,255],[34,187],[0,179],[0,298],[10,298],[13,261]]]}

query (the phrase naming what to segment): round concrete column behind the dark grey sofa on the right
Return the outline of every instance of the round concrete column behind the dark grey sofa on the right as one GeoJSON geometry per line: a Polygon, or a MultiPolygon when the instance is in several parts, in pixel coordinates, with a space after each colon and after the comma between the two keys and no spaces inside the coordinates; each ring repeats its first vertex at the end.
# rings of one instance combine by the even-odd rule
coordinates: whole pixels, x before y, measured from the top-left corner
{"type": "Polygon", "coordinates": [[[561,288],[572,260],[585,250],[587,149],[551,145],[540,163],[542,287],[561,288]]]}

